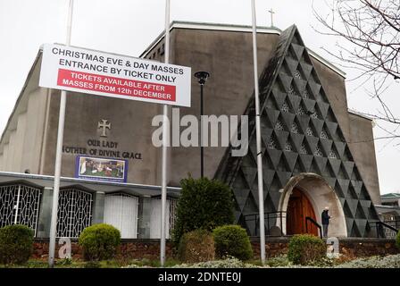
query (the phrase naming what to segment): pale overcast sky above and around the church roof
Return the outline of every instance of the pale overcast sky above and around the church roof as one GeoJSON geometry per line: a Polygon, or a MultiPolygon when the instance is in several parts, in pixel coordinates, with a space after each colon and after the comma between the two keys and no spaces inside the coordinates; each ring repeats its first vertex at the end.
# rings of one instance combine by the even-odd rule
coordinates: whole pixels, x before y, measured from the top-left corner
{"type": "MultiPolygon", "coordinates": [[[[312,27],[318,22],[312,15],[312,0],[256,0],[257,25],[286,29],[295,23],[306,46],[336,63],[321,46],[335,51],[337,38],[322,36],[312,27]]],[[[315,1],[319,12],[327,13],[323,1],[315,1]]],[[[37,50],[43,43],[63,43],[69,0],[0,0],[0,131],[3,132],[12,108],[28,75],[37,50]]],[[[202,21],[251,25],[250,0],[171,0],[171,21],[202,21]]],[[[71,45],[122,55],[138,56],[157,37],[164,25],[164,0],[75,0],[71,45]]],[[[376,113],[377,103],[356,88],[351,80],[355,71],[346,71],[349,108],[376,113]]],[[[387,103],[396,114],[400,83],[387,92],[387,103]]],[[[382,123],[379,123],[379,125],[382,123]]],[[[374,128],[376,138],[386,136],[374,128]]],[[[380,192],[400,190],[397,162],[400,141],[376,140],[380,192]]]]}

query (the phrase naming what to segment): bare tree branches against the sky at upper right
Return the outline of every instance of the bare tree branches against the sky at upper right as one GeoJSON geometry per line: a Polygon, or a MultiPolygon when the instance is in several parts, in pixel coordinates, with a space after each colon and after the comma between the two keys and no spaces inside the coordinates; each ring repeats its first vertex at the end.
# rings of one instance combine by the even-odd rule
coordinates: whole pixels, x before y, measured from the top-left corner
{"type": "MultiPolygon", "coordinates": [[[[358,69],[357,79],[371,81],[371,97],[379,100],[378,114],[372,118],[400,124],[382,99],[390,83],[400,81],[400,0],[329,0],[330,13],[322,15],[314,8],[316,19],[324,27],[323,35],[345,41],[338,51],[324,50],[348,68],[358,69]]],[[[398,127],[398,126],[397,126],[398,127]]],[[[395,134],[392,134],[395,135],[395,134]]]]}

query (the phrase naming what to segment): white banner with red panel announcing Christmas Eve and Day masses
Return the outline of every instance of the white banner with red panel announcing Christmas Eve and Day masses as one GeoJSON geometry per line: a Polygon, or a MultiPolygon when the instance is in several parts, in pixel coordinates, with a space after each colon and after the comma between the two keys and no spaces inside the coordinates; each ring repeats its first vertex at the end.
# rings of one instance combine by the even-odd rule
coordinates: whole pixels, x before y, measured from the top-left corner
{"type": "Polygon", "coordinates": [[[190,106],[190,79],[191,69],[185,66],[46,44],[39,86],[190,106]]]}

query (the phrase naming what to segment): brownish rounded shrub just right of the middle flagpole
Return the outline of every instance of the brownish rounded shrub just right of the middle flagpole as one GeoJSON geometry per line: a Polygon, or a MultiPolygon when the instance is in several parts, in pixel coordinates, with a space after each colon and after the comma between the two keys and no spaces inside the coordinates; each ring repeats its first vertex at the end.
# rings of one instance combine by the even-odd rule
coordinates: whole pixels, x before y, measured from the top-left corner
{"type": "Polygon", "coordinates": [[[205,230],[185,233],[179,242],[178,255],[181,261],[189,263],[213,260],[215,248],[212,234],[205,230]]]}

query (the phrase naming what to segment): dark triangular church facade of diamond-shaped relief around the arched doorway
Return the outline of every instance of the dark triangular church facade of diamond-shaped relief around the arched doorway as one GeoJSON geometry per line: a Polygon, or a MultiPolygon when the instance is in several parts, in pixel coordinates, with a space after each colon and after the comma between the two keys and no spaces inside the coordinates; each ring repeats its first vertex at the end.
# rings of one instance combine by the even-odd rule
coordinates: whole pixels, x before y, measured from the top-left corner
{"type": "MultiPolygon", "coordinates": [[[[258,212],[254,96],[249,115],[249,152],[227,150],[216,177],[234,189],[237,223],[254,234],[246,214],[258,212]]],[[[364,237],[379,220],[350,150],[296,26],[283,31],[275,55],[260,77],[265,212],[278,208],[280,193],[300,172],[321,175],[335,189],[346,215],[348,235],[364,237]]],[[[271,222],[270,222],[271,223],[271,222]]],[[[272,222],[273,223],[273,222],[272,222]]]]}

